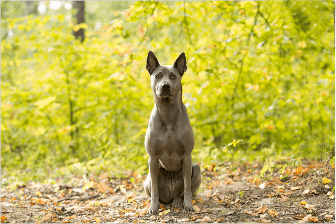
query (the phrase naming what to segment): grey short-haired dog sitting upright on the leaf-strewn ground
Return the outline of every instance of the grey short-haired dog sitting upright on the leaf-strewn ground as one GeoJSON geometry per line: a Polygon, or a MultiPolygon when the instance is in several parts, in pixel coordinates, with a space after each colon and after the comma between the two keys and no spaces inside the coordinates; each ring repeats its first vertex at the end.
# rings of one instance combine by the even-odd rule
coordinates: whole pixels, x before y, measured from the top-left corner
{"type": "Polygon", "coordinates": [[[145,136],[149,174],[143,188],[151,197],[149,215],[159,213],[159,201],[164,204],[172,201],[176,208],[184,204],[184,213],[195,212],[191,200],[202,177],[200,165],[192,164],[195,138],[182,102],[181,78],[187,70],[186,64],[184,52],[173,65],[160,65],[154,53],[148,52],[146,70],[151,76],[155,101],[145,136]]]}

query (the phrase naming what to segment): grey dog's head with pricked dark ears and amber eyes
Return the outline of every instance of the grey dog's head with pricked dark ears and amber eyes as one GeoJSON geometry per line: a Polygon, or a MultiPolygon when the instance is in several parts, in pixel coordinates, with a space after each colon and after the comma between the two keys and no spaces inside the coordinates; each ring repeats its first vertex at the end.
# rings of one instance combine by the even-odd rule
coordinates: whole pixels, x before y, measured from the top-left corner
{"type": "Polygon", "coordinates": [[[151,76],[154,94],[160,98],[172,97],[181,89],[181,78],[187,71],[187,60],[182,52],[173,65],[160,65],[152,51],[148,52],[146,69],[151,76]]]}

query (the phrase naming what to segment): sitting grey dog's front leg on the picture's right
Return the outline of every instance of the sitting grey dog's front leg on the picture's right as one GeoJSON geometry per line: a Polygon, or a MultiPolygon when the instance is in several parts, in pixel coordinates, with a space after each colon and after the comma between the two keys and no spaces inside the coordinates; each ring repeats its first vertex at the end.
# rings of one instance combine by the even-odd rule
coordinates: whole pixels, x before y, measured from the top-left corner
{"type": "Polygon", "coordinates": [[[192,175],[192,160],[191,155],[184,156],[182,161],[182,171],[183,171],[183,180],[184,180],[184,213],[195,212],[193,204],[191,202],[192,193],[191,193],[191,175],[192,175]]]}

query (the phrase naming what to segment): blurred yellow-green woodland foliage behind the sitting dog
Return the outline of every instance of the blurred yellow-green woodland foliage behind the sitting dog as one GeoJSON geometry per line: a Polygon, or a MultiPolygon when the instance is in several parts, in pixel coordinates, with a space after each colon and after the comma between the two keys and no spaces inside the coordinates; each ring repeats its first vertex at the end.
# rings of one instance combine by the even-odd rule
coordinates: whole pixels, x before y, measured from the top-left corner
{"type": "MultiPolygon", "coordinates": [[[[193,162],[335,154],[334,1],[1,1],[1,178],[145,174],[145,69],[186,53],[193,162]]],[[[334,159],[334,157],[333,157],[334,159]]]]}

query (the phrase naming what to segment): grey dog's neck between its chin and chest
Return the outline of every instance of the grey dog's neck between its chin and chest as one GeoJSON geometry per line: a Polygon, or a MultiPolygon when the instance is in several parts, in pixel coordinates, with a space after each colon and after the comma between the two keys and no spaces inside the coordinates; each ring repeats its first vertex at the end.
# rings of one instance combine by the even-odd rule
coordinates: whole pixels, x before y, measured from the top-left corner
{"type": "Polygon", "coordinates": [[[177,120],[182,105],[182,91],[178,91],[172,97],[160,98],[154,94],[157,114],[164,125],[174,124],[177,120]]]}

